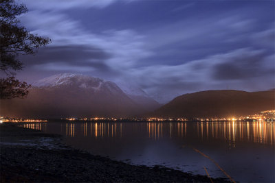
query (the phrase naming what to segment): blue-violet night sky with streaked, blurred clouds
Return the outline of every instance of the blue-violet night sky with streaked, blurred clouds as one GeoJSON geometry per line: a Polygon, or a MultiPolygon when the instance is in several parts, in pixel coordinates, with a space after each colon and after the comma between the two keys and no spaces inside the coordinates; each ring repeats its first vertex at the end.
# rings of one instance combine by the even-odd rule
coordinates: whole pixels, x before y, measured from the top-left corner
{"type": "Polygon", "coordinates": [[[52,44],[22,56],[34,82],[83,73],[167,101],[209,89],[275,88],[275,1],[19,1],[52,44]]]}

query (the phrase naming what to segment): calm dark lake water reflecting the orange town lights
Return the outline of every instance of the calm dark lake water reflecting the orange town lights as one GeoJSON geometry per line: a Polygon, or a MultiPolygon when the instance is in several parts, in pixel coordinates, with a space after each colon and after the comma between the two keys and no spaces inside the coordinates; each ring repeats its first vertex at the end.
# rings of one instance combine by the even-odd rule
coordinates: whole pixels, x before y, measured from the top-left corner
{"type": "Polygon", "coordinates": [[[156,164],[212,178],[275,182],[275,125],[271,122],[30,123],[63,134],[65,143],[131,164],[156,164]]]}

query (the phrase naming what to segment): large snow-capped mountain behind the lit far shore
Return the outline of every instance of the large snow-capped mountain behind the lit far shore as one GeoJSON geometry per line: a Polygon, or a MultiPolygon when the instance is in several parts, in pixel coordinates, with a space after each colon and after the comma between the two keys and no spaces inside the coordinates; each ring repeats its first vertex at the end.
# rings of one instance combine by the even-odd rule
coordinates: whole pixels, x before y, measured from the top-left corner
{"type": "MultiPolygon", "coordinates": [[[[78,74],[58,74],[34,84],[25,99],[1,100],[5,117],[132,117],[154,110],[153,99],[137,103],[113,82],[78,74]],[[148,106],[151,105],[151,108],[148,106]]],[[[154,106],[155,105],[155,106],[154,106]]]]}

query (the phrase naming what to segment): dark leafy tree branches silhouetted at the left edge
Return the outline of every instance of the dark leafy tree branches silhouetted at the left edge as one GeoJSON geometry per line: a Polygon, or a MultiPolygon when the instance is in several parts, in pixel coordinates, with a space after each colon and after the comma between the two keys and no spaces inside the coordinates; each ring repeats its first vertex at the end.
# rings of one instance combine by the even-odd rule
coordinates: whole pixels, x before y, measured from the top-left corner
{"type": "Polygon", "coordinates": [[[11,99],[28,95],[28,85],[19,82],[14,71],[23,69],[23,63],[18,60],[19,55],[34,54],[35,49],[51,42],[49,38],[43,38],[30,34],[28,30],[19,25],[17,16],[25,14],[28,9],[23,4],[16,4],[14,0],[0,0],[0,70],[7,77],[0,78],[0,98],[11,99]]]}

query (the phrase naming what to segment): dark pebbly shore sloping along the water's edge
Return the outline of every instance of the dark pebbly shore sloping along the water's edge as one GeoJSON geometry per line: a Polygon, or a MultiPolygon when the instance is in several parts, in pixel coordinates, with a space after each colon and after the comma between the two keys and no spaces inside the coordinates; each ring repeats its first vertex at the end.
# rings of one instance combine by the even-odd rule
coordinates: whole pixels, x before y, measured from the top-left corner
{"type": "Polygon", "coordinates": [[[64,145],[62,136],[13,123],[2,123],[0,132],[1,182],[211,182],[204,175],[94,156],[64,145]]]}

